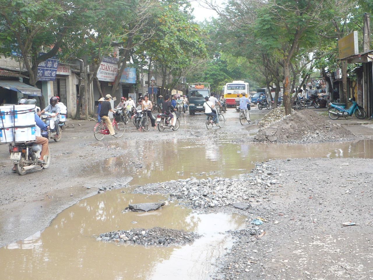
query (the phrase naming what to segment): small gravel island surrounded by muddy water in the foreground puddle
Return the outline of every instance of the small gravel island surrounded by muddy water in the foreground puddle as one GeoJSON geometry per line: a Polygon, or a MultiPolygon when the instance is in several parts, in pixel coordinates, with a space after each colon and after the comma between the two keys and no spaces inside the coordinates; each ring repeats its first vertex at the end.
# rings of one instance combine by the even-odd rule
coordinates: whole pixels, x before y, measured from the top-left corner
{"type": "Polygon", "coordinates": [[[153,227],[150,229],[134,228],[101,233],[97,240],[112,241],[142,246],[171,246],[192,243],[200,235],[184,230],[153,227]]]}

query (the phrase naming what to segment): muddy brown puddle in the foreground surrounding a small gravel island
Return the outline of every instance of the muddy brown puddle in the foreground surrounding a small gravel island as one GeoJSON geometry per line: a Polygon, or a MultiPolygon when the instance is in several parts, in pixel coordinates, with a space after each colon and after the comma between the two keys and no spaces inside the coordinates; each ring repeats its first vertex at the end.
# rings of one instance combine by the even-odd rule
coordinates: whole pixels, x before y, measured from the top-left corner
{"type": "Polygon", "coordinates": [[[1,248],[1,279],[209,279],[211,263],[232,246],[225,231],[245,227],[245,217],[196,214],[176,203],[153,212],[122,212],[129,203],[160,200],[164,197],[120,190],[83,199],[44,231],[1,248]],[[95,240],[107,231],[152,227],[203,236],[191,245],[171,247],[95,240]]]}

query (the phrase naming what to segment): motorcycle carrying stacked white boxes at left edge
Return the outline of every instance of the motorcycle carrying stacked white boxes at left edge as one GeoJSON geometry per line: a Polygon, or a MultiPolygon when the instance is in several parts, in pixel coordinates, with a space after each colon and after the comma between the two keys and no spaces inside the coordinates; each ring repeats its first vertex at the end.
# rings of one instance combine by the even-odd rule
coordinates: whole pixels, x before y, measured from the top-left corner
{"type": "Polygon", "coordinates": [[[46,169],[50,164],[50,150],[44,156],[45,163],[38,163],[40,158],[41,145],[35,144],[35,141],[28,141],[25,143],[10,143],[9,152],[10,159],[15,165],[16,172],[19,175],[25,175],[31,169],[46,169]]]}

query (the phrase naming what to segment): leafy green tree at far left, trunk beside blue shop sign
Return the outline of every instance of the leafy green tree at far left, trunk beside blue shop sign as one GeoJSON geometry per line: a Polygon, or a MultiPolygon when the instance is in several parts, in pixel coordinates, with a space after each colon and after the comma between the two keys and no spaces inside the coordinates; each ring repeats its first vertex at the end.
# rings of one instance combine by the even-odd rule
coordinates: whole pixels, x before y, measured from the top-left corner
{"type": "MultiPolygon", "coordinates": [[[[0,0],[0,54],[21,54],[33,86],[38,65],[57,54],[63,39],[79,15],[73,1],[0,0]]],[[[44,107],[43,97],[39,97],[44,107]]]]}

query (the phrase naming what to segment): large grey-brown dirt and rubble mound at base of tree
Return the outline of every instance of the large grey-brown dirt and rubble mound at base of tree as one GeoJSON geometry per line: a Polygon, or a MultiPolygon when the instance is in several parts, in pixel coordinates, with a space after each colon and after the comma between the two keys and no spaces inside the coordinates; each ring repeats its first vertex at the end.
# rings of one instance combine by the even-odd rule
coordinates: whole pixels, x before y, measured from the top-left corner
{"type": "MultiPolygon", "coordinates": [[[[279,110],[282,109],[279,108],[279,110]]],[[[259,122],[261,128],[254,137],[255,141],[318,143],[355,139],[350,131],[339,124],[330,123],[312,109],[301,110],[282,117],[273,115],[267,117],[267,115],[264,116],[264,121],[259,122]]]]}

